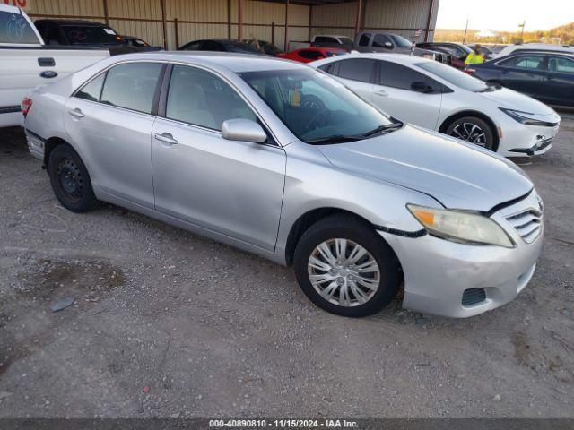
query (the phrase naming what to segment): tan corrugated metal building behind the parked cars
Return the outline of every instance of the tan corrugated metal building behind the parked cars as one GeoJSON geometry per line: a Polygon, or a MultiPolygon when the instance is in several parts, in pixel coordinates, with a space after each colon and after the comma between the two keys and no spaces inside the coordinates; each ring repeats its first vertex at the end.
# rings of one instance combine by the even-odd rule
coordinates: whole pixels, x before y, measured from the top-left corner
{"type": "MultiPolygon", "coordinates": [[[[2,0],[0,0],[2,1],[2,0]]],[[[119,33],[175,49],[195,39],[255,37],[288,47],[316,34],[385,30],[431,40],[439,0],[4,0],[32,19],[107,22],[119,33]],[[287,41],[287,43],[286,43],[287,41]]]]}

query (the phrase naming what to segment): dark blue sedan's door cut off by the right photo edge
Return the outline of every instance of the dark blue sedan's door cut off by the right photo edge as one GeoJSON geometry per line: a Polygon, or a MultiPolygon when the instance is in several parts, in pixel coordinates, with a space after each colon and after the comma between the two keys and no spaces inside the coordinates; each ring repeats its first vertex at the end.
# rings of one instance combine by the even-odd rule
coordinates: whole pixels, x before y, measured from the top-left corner
{"type": "Polygon", "coordinates": [[[548,56],[544,81],[549,101],[558,105],[574,104],[574,60],[566,56],[548,56]]]}

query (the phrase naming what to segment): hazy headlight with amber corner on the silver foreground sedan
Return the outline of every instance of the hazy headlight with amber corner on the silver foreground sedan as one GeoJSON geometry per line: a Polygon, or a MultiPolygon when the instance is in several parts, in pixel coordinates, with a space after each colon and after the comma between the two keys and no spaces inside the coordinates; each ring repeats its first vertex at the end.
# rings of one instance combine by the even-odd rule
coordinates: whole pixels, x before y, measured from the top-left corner
{"type": "Polygon", "coordinates": [[[414,204],[407,204],[406,207],[432,236],[463,244],[514,246],[509,235],[495,221],[479,213],[414,204]]]}

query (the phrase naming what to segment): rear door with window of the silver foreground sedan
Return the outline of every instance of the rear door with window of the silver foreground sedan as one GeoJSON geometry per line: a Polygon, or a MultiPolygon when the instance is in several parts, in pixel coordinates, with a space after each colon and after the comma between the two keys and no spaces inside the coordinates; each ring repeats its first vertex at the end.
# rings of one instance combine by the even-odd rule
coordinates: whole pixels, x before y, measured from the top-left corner
{"type": "Polygon", "coordinates": [[[117,64],[67,103],[65,129],[101,192],[153,208],[152,126],[165,64],[117,64]]]}

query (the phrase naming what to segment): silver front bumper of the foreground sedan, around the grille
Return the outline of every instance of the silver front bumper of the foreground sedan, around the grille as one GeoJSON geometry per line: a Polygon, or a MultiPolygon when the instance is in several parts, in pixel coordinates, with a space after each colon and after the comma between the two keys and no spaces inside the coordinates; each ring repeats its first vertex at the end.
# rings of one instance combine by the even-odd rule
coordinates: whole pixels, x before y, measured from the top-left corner
{"type": "Polygon", "coordinates": [[[535,272],[544,227],[541,225],[539,236],[527,244],[506,218],[530,206],[539,210],[535,192],[491,216],[507,230],[517,244],[514,248],[464,245],[430,235],[413,238],[379,231],[403,267],[403,307],[424,314],[465,318],[517,297],[535,272]],[[463,305],[463,294],[471,288],[483,288],[484,299],[463,305]]]}

